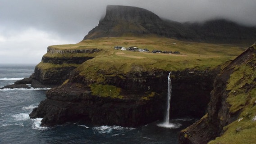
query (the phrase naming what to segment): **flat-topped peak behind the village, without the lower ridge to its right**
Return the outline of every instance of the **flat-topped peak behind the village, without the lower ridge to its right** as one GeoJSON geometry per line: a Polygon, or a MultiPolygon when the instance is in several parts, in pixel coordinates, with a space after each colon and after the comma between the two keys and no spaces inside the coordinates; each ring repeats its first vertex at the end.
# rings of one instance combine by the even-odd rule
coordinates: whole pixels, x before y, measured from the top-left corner
{"type": "Polygon", "coordinates": [[[166,36],[185,38],[181,23],[167,22],[149,10],[121,5],[108,5],[105,18],[89,31],[85,39],[119,36],[166,36]]]}

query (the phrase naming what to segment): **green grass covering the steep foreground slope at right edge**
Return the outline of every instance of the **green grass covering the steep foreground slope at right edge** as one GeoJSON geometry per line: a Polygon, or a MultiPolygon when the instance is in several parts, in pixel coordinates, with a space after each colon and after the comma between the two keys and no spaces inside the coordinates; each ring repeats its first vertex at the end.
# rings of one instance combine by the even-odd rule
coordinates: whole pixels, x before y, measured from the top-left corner
{"type": "Polygon", "coordinates": [[[209,144],[255,144],[256,139],[256,70],[251,61],[233,67],[227,89],[226,102],[229,103],[230,114],[239,112],[238,120],[223,128],[224,134],[209,144]]]}

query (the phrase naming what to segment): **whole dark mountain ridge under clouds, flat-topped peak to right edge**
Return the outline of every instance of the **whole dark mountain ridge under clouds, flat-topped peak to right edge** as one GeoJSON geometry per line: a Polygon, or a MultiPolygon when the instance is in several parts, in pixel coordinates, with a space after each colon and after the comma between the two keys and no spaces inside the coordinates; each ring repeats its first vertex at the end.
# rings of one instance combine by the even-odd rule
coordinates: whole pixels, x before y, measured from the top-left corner
{"type": "Polygon", "coordinates": [[[165,36],[209,43],[253,43],[256,27],[238,25],[224,19],[203,24],[164,20],[153,12],[132,6],[108,5],[106,14],[86,39],[120,36],[165,36]]]}

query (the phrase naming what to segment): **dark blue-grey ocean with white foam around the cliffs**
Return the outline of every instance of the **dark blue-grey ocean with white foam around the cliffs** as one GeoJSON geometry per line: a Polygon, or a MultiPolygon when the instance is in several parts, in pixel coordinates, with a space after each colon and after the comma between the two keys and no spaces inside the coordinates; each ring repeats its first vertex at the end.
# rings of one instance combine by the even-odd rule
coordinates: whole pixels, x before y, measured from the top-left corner
{"type": "MultiPolygon", "coordinates": [[[[29,77],[32,64],[0,64],[0,87],[29,77]]],[[[190,118],[173,118],[171,128],[161,121],[138,127],[93,126],[78,121],[41,127],[41,118],[30,119],[33,108],[46,99],[46,90],[0,90],[0,144],[178,144],[178,132],[191,125],[190,118]]]]}

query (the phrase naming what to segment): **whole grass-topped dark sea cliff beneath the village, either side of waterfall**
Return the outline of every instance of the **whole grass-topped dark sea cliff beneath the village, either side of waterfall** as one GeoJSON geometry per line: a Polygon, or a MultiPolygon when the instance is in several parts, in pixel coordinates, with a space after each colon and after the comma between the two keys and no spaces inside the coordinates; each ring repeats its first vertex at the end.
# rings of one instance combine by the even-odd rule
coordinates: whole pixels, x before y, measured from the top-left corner
{"type": "Polygon", "coordinates": [[[30,117],[42,117],[43,126],[79,120],[96,125],[139,126],[162,120],[170,71],[174,85],[170,115],[201,117],[218,72],[215,68],[240,52],[241,48],[233,45],[187,43],[161,37],[108,37],[50,46],[37,65],[37,77],[45,83],[66,80],[46,93],[46,99],[30,117]],[[146,45],[150,51],[173,49],[181,54],[121,51],[114,45],[146,45]],[[202,48],[205,46],[207,49],[202,48]],[[69,63],[77,57],[86,61],[69,63]],[[64,75],[67,77],[58,70],[65,66],[76,66],[64,75]]]}

